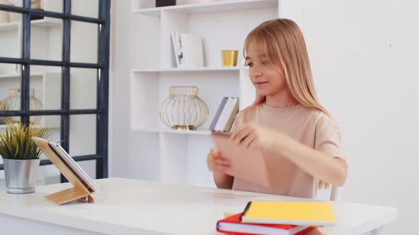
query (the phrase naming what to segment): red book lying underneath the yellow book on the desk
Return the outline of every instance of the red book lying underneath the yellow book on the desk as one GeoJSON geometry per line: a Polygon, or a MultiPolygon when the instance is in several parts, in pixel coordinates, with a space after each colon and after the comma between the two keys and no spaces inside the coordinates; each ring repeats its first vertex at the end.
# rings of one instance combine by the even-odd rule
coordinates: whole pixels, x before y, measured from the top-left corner
{"type": "Polygon", "coordinates": [[[217,231],[224,234],[239,235],[301,235],[315,227],[289,224],[244,224],[240,221],[241,213],[226,217],[217,222],[217,231]]]}

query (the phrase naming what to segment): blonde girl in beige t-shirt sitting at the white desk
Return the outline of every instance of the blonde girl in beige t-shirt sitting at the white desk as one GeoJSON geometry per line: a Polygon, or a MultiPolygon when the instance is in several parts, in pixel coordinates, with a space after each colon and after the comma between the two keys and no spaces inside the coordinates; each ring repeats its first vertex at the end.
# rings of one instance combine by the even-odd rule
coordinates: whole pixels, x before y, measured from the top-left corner
{"type": "Polygon", "coordinates": [[[263,151],[271,187],[227,175],[229,160],[211,149],[207,165],[217,187],[312,198],[317,186],[342,186],[347,164],[339,127],[317,101],[298,25],[288,19],[262,23],[247,36],[243,54],[256,101],[236,115],[229,138],[263,151]]]}

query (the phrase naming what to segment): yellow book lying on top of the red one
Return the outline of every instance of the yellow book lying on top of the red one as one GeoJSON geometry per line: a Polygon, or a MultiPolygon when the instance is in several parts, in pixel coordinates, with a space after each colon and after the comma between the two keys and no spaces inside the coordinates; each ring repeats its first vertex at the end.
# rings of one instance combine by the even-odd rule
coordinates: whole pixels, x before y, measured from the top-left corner
{"type": "Polygon", "coordinates": [[[243,223],[334,226],[329,202],[249,202],[241,216],[243,223]]]}

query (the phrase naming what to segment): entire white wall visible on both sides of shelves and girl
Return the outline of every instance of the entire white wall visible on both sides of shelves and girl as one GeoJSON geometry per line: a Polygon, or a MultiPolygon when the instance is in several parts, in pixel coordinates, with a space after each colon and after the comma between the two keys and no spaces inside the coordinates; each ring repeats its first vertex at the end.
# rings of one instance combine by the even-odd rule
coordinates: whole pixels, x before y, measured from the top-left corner
{"type": "MultiPolygon", "coordinates": [[[[159,28],[142,33],[147,24],[158,27],[158,20],[132,14],[131,1],[112,4],[111,175],[155,180],[158,160],[136,154],[153,142],[129,131],[129,79],[132,67],[158,66],[152,55],[159,55],[159,28]],[[150,47],[140,49],[139,42],[150,47]]],[[[399,219],[387,234],[415,231],[419,1],[308,0],[295,6],[304,7],[299,20],[317,93],[341,125],[349,154],[342,199],[398,207],[399,219]]]]}

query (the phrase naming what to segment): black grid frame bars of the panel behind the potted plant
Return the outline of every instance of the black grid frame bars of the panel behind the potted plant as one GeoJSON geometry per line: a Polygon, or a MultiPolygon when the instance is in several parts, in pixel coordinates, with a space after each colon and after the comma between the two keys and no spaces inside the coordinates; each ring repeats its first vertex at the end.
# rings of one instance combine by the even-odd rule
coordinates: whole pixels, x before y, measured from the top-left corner
{"type": "MultiPolygon", "coordinates": [[[[56,0],[60,1],[60,0],[56,0]]],[[[97,116],[96,154],[73,156],[75,161],[96,160],[97,178],[108,177],[108,107],[109,107],[109,38],[110,38],[110,0],[99,0],[99,18],[75,16],[71,14],[71,0],[63,1],[62,13],[39,11],[31,9],[31,0],[23,0],[23,7],[6,6],[0,4],[0,11],[11,11],[23,14],[23,45],[21,58],[0,57],[0,63],[21,64],[21,110],[0,111],[1,116],[20,116],[23,124],[29,124],[29,117],[33,115],[60,115],[60,139],[64,140],[62,147],[68,151],[70,139],[70,115],[95,114],[97,116]],[[31,16],[44,16],[62,19],[62,61],[31,59],[31,16]],[[97,63],[70,62],[70,33],[71,21],[96,23],[98,29],[97,63]],[[62,93],[60,110],[29,110],[29,90],[31,65],[62,67],[62,93]],[[70,69],[97,69],[97,107],[96,109],[70,110],[70,69]]],[[[49,160],[42,160],[41,165],[51,164],[49,160]]],[[[0,164],[0,170],[4,169],[0,164]]],[[[61,176],[61,180],[65,178],[61,176]]]]}

